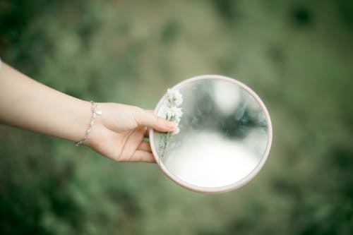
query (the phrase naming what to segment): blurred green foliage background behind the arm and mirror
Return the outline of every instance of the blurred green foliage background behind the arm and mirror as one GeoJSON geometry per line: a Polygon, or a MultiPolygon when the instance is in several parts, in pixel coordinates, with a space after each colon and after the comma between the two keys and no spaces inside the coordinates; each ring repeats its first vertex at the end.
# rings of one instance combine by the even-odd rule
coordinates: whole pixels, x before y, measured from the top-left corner
{"type": "Polygon", "coordinates": [[[0,234],[353,234],[352,1],[0,0],[0,56],[148,109],[181,80],[230,76],[274,128],[258,176],[202,195],[155,164],[0,126],[0,234]]]}

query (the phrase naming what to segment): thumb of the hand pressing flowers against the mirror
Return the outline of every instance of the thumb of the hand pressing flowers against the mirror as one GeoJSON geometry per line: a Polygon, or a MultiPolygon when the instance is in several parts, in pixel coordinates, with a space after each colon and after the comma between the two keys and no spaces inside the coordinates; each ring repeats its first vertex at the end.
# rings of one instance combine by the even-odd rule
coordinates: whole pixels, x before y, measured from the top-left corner
{"type": "Polygon", "coordinates": [[[135,115],[136,122],[139,126],[149,126],[157,131],[169,132],[174,131],[176,124],[168,121],[144,109],[138,109],[135,115]]]}

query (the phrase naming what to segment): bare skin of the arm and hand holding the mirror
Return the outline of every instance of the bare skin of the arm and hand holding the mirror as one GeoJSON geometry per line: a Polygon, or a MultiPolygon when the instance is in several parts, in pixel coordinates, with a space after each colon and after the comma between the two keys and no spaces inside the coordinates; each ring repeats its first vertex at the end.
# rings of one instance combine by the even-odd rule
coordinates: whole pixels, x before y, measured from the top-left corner
{"type": "MultiPolygon", "coordinates": [[[[150,110],[96,103],[97,115],[83,143],[101,155],[120,162],[155,162],[145,127],[169,132],[175,123],[150,110]]],[[[90,126],[92,104],[32,80],[2,62],[0,70],[0,123],[78,142],[90,126]]]]}

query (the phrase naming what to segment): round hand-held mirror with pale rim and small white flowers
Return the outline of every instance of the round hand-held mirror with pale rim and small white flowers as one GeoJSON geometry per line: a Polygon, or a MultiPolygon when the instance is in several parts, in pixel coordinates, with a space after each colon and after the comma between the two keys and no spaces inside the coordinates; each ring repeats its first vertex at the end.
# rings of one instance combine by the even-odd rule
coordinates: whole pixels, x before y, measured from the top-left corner
{"type": "Polygon", "coordinates": [[[261,169],[270,150],[270,116],[243,83],[198,76],[168,90],[155,114],[178,123],[174,133],[150,131],[160,168],[192,191],[222,193],[239,188],[261,169]]]}

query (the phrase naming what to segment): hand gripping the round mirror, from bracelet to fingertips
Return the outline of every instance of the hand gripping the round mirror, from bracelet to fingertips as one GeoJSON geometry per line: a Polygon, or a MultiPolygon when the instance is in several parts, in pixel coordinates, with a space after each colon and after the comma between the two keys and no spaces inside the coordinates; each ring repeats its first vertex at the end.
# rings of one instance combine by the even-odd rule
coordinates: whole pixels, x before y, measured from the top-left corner
{"type": "Polygon", "coordinates": [[[174,131],[176,125],[151,111],[126,104],[97,103],[97,115],[85,141],[101,155],[119,162],[155,162],[150,143],[143,141],[145,126],[157,131],[174,131]]]}

